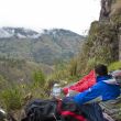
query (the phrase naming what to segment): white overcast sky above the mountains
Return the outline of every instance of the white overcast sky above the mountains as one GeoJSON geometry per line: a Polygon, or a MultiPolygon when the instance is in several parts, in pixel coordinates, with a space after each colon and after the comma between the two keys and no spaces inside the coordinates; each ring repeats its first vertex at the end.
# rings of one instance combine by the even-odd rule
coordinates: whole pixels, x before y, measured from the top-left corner
{"type": "Polygon", "coordinates": [[[99,12],[100,0],[0,0],[0,28],[66,29],[85,34],[99,12]]]}

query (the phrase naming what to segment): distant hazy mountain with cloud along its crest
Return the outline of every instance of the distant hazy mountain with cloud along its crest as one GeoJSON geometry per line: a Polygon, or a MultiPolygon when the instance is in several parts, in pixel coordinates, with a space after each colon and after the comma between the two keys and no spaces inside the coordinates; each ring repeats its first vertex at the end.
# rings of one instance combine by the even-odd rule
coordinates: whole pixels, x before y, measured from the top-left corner
{"type": "Polygon", "coordinates": [[[53,65],[79,53],[85,37],[64,29],[36,32],[24,28],[0,29],[0,56],[53,65]]]}

